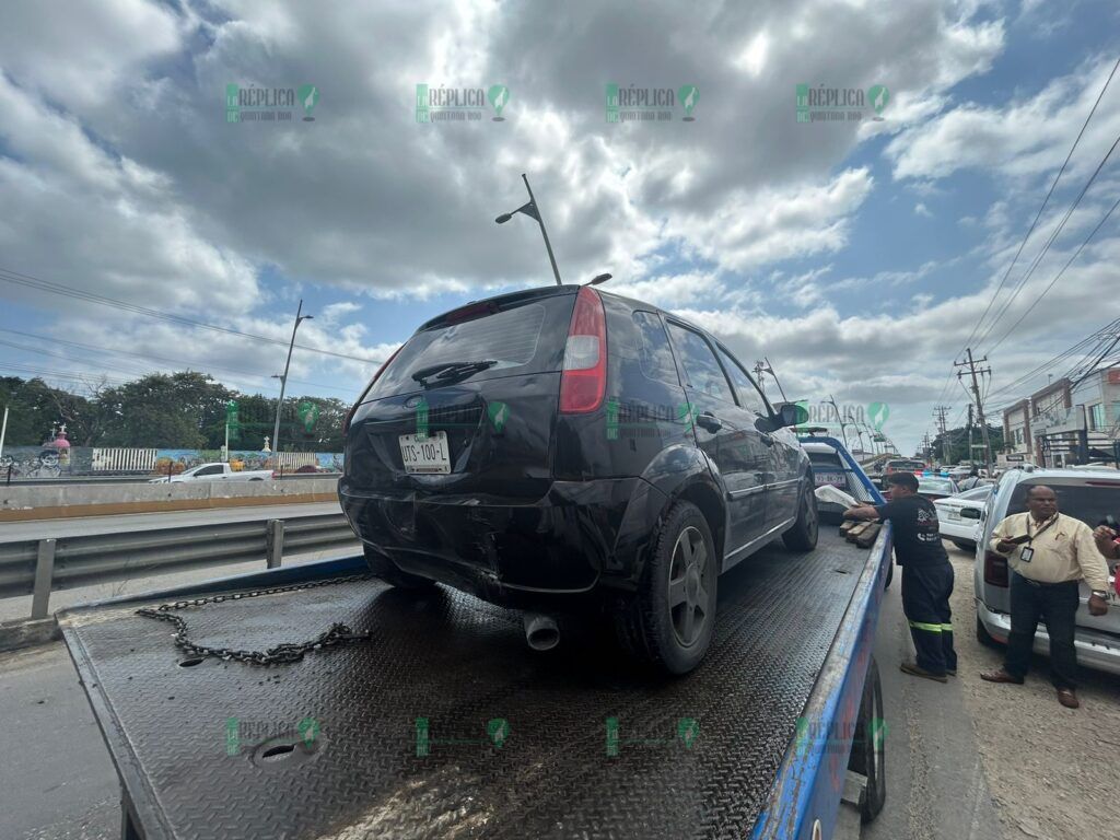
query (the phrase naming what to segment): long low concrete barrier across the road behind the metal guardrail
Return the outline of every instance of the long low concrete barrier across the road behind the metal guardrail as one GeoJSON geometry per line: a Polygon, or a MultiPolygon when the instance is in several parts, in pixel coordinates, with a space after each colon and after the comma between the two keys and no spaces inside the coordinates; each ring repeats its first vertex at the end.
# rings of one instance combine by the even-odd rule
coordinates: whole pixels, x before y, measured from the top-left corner
{"type": "Polygon", "coordinates": [[[0,486],[0,522],[332,502],[338,497],[337,487],[337,478],[0,486]]]}

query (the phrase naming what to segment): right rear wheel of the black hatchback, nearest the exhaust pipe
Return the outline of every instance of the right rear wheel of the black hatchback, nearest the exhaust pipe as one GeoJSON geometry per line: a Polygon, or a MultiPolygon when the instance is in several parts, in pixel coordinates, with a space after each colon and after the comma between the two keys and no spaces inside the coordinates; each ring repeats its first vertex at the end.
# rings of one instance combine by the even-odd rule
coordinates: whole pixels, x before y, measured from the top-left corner
{"type": "Polygon", "coordinates": [[[678,502],[662,521],[634,598],[615,616],[632,655],[671,674],[700,664],[716,625],[719,558],[708,521],[678,502]]]}

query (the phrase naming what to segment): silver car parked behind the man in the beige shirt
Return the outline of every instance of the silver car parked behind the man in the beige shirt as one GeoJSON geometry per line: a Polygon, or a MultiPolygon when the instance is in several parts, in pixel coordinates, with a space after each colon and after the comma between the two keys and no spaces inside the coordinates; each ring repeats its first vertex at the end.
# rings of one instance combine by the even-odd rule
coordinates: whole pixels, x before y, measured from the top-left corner
{"type": "MultiPolygon", "coordinates": [[[[1096,528],[1105,516],[1120,519],[1120,474],[1109,475],[1090,469],[1011,469],[1000,476],[981,513],[977,541],[974,584],[977,599],[977,637],[981,643],[1006,644],[1011,632],[1008,614],[1007,561],[989,550],[992,531],[1004,517],[1027,510],[1027,491],[1044,484],[1057,494],[1058,511],[1096,528]]],[[[1116,564],[1109,561],[1110,568],[1116,564]]],[[[1077,607],[1074,645],[1077,662],[1088,668],[1120,674],[1120,598],[1116,596],[1116,569],[1109,578],[1109,612],[1102,616],[1089,614],[1090,591],[1081,582],[1081,605],[1077,607]]],[[[1039,623],[1035,634],[1035,652],[1049,654],[1049,636],[1039,623]]]]}

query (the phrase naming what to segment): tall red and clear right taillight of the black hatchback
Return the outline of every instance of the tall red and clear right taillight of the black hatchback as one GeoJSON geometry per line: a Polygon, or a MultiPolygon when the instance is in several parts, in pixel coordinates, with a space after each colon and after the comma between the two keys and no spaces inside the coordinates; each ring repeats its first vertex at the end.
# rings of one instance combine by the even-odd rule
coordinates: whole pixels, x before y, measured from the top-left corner
{"type": "Polygon", "coordinates": [[[607,319],[598,292],[584,286],[576,296],[560,374],[560,411],[584,414],[603,404],[607,390],[607,319]]]}

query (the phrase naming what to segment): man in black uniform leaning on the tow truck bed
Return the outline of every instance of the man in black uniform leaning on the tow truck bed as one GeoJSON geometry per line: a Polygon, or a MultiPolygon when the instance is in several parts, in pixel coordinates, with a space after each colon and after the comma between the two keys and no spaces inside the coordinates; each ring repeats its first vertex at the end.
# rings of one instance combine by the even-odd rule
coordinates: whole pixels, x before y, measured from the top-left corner
{"type": "Polygon", "coordinates": [[[941,544],[937,510],[917,495],[917,478],[911,473],[887,476],[890,501],[885,505],[861,504],[844,511],[847,519],[889,520],[895,557],[903,567],[903,612],[914,636],[917,662],[904,662],[908,674],[948,682],[956,675],[953,625],[949,596],[953,594],[953,564],[941,544]]]}

